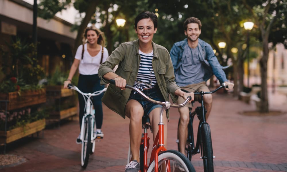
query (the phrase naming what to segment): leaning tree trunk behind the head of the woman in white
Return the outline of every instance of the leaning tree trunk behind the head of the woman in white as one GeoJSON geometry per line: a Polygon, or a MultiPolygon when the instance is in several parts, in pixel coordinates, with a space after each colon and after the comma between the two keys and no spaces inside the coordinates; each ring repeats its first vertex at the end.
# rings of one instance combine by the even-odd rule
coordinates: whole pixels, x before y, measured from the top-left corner
{"type": "Polygon", "coordinates": [[[88,5],[88,9],[86,11],[86,15],[85,15],[84,19],[82,20],[81,25],[79,26],[77,37],[76,37],[76,40],[75,40],[75,43],[74,43],[74,47],[73,47],[73,55],[74,56],[76,54],[78,46],[83,43],[82,39],[83,39],[84,30],[88,26],[92,15],[94,15],[97,5],[98,5],[98,1],[97,0],[90,1],[90,4],[88,5]]]}

